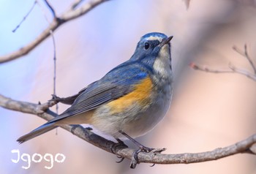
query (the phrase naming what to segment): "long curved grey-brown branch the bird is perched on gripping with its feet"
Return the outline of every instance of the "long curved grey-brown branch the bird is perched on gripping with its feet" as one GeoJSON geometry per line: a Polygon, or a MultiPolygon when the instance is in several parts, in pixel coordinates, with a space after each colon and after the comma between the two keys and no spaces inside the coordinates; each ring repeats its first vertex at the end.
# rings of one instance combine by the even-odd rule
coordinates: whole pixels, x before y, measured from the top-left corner
{"type": "MultiPolygon", "coordinates": [[[[31,113],[44,118],[49,121],[57,116],[56,113],[53,113],[48,108],[55,105],[56,102],[50,101],[42,105],[34,104],[30,102],[20,102],[7,97],[0,95],[0,106],[7,108],[9,110],[17,110],[23,113],[31,113]]],[[[66,129],[68,132],[80,137],[83,140],[86,140],[88,143],[91,143],[99,148],[102,148],[105,151],[116,154],[118,156],[132,159],[131,166],[135,167],[137,162],[132,158],[135,153],[135,149],[127,148],[126,146],[118,145],[116,148],[113,141],[106,140],[104,137],[94,134],[89,129],[83,128],[83,126],[61,126],[63,129],[66,129]]],[[[226,156],[231,156],[234,154],[256,154],[256,134],[252,135],[245,140],[241,140],[238,143],[229,145],[225,148],[216,148],[213,151],[206,151],[201,153],[185,153],[185,154],[160,154],[159,151],[162,151],[162,148],[152,151],[150,153],[141,152],[138,154],[139,162],[144,163],[153,163],[153,164],[189,164],[195,162],[206,162],[224,158],[226,156]]]]}

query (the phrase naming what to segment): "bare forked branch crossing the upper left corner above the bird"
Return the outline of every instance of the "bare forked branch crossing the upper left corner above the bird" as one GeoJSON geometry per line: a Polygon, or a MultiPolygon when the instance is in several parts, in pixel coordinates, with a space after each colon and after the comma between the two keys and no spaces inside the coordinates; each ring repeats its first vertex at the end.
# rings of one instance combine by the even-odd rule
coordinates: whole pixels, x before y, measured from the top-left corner
{"type": "MultiPolygon", "coordinates": [[[[69,10],[67,10],[66,12],[64,12],[63,15],[61,15],[61,17],[57,17],[53,10],[54,12],[53,15],[55,15],[56,18],[53,19],[53,21],[50,23],[48,28],[42,31],[42,33],[39,34],[39,36],[36,39],[34,39],[32,42],[30,42],[28,45],[24,46],[23,48],[20,48],[19,50],[16,50],[5,56],[0,56],[0,64],[7,61],[12,61],[16,58],[19,58],[20,56],[25,56],[27,53],[29,53],[31,50],[37,47],[37,45],[39,45],[42,41],[44,41],[50,35],[50,31],[55,31],[63,23],[66,23],[70,20],[78,18],[82,15],[85,15],[87,12],[93,10],[94,7],[97,7],[99,4],[102,4],[105,1],[108,1],[108,0],[91,0],[78,9],[72,8],[74,5],[77,6],[77,4],[75,3],[78,3],[78,2],[75,2],[74,4],[71,5],[69,10]]],[[[50,7],[50,4],[48,4],[48,7],[50,7]]]]}

